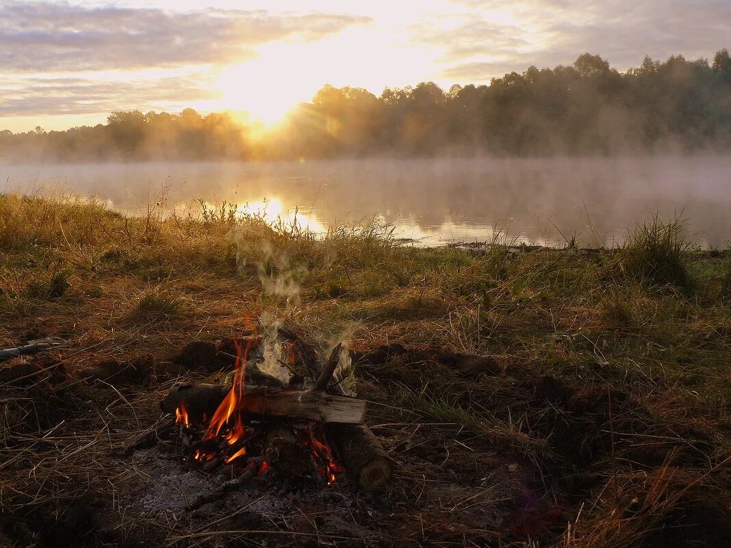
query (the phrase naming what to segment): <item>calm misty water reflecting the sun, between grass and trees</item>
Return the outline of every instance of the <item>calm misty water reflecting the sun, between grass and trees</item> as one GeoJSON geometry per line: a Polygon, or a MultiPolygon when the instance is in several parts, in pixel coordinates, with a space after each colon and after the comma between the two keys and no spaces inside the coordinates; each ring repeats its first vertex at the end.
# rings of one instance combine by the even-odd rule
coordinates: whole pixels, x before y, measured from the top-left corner
{"type": "Polygon", "coordinates": [[[0,165],[0,191],[62,186],[128,213],[164,194],[178,210],[223,200],[322,231],[379,218],[418,245],[489,241],[613,245],[653,213],[689,220],[703,247],[731,242],[731,156],[363,159],[260,164],[0,165]]]}

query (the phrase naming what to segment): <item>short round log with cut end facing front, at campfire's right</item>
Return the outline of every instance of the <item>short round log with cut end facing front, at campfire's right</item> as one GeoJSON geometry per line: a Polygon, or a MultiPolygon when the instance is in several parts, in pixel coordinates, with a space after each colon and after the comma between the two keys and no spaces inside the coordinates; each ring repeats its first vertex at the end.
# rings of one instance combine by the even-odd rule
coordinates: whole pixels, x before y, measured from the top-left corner
{"type": "Polygon", "coordinates": [[[366,425],[329,425],[327,435],[358,487],[376,490],[391,478],[393,460],[366,425]]]}

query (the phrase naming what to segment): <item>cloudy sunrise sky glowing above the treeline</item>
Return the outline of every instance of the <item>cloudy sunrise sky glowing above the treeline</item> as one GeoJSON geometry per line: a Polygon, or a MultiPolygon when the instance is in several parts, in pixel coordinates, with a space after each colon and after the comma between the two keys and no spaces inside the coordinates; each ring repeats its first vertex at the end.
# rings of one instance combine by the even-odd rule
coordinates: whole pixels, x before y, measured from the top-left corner
{"type": "Polygon", "coordinates": [[[330,83],[489,83],[598,53],[712,58],[731,0],[0,0],[0,129],[113,110],[249,111],[273,122],[330,83]]]}

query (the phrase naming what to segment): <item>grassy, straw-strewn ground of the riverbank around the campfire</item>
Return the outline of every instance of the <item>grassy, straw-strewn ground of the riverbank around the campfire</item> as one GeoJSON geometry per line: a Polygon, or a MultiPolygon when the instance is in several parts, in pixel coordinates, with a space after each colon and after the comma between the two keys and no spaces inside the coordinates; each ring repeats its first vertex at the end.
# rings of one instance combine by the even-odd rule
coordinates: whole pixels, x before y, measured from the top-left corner
{"type": "Polygon", "coordinates": [[[1,346],[69,340],[0,366],[0,544],[727,546],[731,252],[681,228],[419,249],[376,224],[316,238],[225,206],[0,196],[1,346]],[[260,479],[187,512],[222,479],[132,447],[172,420],[170,387],[217,374],[181,347],[252,317],[347,341],[384,490],[260,479]]]}

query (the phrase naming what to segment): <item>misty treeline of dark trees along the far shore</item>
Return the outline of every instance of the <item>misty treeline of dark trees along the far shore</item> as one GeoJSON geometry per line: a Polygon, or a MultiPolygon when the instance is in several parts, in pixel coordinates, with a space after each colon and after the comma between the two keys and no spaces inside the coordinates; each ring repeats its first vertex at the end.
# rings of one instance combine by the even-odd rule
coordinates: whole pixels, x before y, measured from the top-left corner
{"type": "Polygon", "coordinates": [[[263,130],[230,113],[115,112],[106,124],[0,131],[1,161],[302,160],[346,156],[608,155],[727,151],[731,55],[645,57],[619,72],[584,53],[572,66],[529,67],[490,85],[325,85],[263,130]]]}

